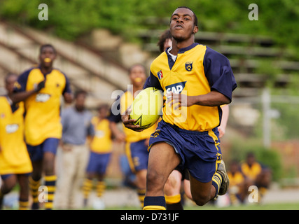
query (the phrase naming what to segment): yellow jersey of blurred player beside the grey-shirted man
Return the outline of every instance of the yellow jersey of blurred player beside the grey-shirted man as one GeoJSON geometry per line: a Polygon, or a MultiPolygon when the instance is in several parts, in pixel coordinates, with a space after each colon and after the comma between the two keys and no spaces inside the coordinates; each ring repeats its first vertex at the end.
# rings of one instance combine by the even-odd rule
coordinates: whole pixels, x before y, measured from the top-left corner
{"type": "Polygon", "coordinates": [[[91,123],[95,127],[95,136],[90,143],[90,150],[95,153],[110,153],[112,140],[109,120],[99,120],[98,117],[93,117],[91,123]]]}

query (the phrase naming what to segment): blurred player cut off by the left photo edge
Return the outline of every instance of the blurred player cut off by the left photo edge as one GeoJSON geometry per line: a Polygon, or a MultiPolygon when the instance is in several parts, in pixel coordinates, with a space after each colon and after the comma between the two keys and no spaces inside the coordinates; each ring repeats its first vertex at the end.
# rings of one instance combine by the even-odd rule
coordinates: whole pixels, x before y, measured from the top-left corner
{"type": "Polygon", "coordinates": [[[32,164],[24,141],[24,104],[13,104],[10,99],[18,76],[10,73],[5,78],[8,94],[0,97],[0,209],[4,195],[19,183],[19,209],[29,208],[28,177],[32,164]]]}

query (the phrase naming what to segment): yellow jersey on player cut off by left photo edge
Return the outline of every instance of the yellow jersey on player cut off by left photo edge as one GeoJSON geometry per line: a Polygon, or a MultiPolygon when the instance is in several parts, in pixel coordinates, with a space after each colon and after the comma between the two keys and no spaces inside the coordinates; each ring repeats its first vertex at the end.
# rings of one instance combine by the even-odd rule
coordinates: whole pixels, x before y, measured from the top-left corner
{"type": "Polygon", "coordinates": [[[24,104],[11,106],[0,97],[0,174],[26,174],[32,164],[24,141],[24,104]]]}

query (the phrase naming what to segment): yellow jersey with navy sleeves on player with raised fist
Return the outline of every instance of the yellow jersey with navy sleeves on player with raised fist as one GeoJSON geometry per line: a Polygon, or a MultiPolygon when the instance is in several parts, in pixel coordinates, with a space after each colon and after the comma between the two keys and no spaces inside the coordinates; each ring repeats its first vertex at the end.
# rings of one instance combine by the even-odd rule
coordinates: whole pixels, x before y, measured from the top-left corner
{"type": "Polygon", "coordinates": [[[25,99],[25,139],[32,146],[37,146],[48,138],[62,137],[60,100],[64,92],[71,92],[69,80],[62,71],[52,69],[44,75],[39,67],[20,75],[15,92],[33,90],[45,78],[45,87],[25,99]]]}

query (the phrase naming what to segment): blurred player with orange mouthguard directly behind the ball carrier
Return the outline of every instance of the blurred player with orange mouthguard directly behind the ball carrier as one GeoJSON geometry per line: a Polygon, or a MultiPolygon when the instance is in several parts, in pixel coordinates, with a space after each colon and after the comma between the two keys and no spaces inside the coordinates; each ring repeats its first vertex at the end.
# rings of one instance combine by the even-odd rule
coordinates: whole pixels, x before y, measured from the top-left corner
{"type": "MultiPolygon", "coordinates": [[[[137,96],[140,90],[143,90],[144,82],[146,80],[146,71],[144,66],[141,64],[134,64],[129,69],[129,76],[132,85],[130,90],[127,90],[120,98],[113,104],[118,106],[118,109],[111,107],[111,128],[116,137],[121,137],[122,134],[119,133],[116,123],[121,121],[121,114],[127,111],[128,107],[132,104],[134,97],[137,96]],[[115,111],[116,110],[116,111],[115,111]],[[116,113],[117,112],[117,113],[116,113]],[[120,112],[120,113],[119,113],[120,112]]],[[[144,203],[144,195],[146,191],[146,170],[148,167],[148,139],[153,132],[155,132],[156,125],[144,130],[144,132],[134,132],[124,128],[125,133],[125,153],[127,155],[127,160],[129,162],[132,172],[136,174],[137,181],[137,193],[139,195],[139,200],[141,207],[144,203]]]]}

